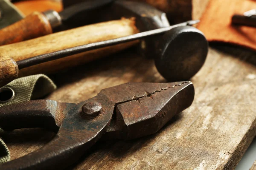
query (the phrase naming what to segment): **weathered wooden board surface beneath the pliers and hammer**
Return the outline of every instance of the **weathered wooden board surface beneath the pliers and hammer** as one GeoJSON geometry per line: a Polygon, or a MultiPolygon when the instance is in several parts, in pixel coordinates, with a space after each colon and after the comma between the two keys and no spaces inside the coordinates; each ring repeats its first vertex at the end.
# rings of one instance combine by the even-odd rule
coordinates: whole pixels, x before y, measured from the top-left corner
{"type": "MultiPolygon", "coordinates": [[[[203,68],[191,79],[192,106],[154,135],[131,141],[98,142],[75,170],[233,169],[256,136],[256,53],[212,45],[203,68]]],[[[154,61],[134,48],[52,77],[58,89],[47,99],[81,102],[101,89],[125,82],[166,82],[154,61]]],[[[12,159],[30,153],[54,136],[41,129],[3,135],[12,159]]]]}

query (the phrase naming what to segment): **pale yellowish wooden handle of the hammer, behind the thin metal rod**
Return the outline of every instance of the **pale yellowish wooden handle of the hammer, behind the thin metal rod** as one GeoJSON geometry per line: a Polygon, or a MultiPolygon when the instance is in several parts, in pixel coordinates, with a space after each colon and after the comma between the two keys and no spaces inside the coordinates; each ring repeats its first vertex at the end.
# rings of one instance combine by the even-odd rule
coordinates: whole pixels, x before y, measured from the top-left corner
{"type": "MultiPolygon", "coordinates": [[[[133,19],[122,19],[97,23],[79,28],[61,31],[47,36],[38,37],[32,40],[0,46],[0,56],[11,56],[15,61],[27,59],[40,54],[46,54],[65,48],[84,45],[92,42],[110,40],[137,33],[133,19]]],[[[134,45],[138,41],[127,42],[111,47],[87,51],[81,54],[72,55],[62,59],[45,62],[19,71],[19,76],[31,74],[54,73],[64,68],[73,67],[84,62],[95,60],[121,51],[134,45]]]]}

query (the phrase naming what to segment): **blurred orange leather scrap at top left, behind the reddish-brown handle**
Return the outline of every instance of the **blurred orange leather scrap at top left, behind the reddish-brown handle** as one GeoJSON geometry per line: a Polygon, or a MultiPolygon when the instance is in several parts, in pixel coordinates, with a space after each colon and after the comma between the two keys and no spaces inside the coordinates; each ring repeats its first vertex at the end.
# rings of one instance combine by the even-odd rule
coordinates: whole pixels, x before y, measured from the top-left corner
{"type": "Polygon", "coordinates": [[[34,11],[44,12],[49,9],[53,9],[57,12],[62,10],[61,2],[55,2],[52,0],[26,0],[14,3],[20,11],[25,15],[29,15],[34,11]]]}

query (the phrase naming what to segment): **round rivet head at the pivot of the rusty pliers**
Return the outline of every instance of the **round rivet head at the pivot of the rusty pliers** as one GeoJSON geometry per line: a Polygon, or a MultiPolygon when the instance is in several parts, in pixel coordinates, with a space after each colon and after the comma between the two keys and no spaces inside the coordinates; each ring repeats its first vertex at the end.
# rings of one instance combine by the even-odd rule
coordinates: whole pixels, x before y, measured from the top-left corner
{"type": "Polygon", "coordinates": [[[82,106],[81,116],[84,118],[93,118],[99,115],[102,105],[98,102],[87,102],[82,106]]]}

